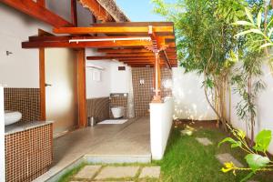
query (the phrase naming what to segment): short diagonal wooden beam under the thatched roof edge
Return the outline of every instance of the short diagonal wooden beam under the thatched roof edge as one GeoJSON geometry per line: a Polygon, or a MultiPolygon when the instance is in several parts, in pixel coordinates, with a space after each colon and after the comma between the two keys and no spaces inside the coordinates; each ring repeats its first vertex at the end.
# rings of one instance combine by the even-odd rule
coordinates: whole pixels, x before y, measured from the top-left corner
{"type": "Polygon", "coordinates": [[[79,0],[79,2],[87,7],[96,19],[102,22],[114,22],[114,18],[106,11],[106,9],[99,5],[96,0],[79,0]]]}

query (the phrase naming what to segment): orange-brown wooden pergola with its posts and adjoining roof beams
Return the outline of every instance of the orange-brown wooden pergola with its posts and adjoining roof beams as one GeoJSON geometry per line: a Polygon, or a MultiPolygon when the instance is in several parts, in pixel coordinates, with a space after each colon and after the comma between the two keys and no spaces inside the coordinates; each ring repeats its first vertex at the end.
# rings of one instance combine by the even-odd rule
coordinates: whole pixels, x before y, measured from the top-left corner
{"type": "MultiPolygon", "coordinates": [[[[53,33],[40,30],[30,36],[23,48],[39,48],[39,75],[41,88],[41,119],[45,120],[45,48],[64,47],[76,50],[76,87],[78,99],[78,126],[86,126],[86,52],[96,48],[104,56],[87,56],[87,60],[115,59],[128,66],[154,66],[155,96],[153,102],[161,102],[160,67],[177,66],[177,53],[173,23],[129,22],[123,12],[111,14],[102,0],[70,0],[71,22],[46,8],[45,0],[0,0],[45,24],[54,27],[53,33]],[[76,1],[92,12],[95,21],[90,27],[77,27],[76,1]],[[117,17],[118,16],[118,17],[117,17]],[[116,23],[124,22],[124,23],[116,23]]],[[[114,4],[114,3],[113,3],[114,4]]]]}

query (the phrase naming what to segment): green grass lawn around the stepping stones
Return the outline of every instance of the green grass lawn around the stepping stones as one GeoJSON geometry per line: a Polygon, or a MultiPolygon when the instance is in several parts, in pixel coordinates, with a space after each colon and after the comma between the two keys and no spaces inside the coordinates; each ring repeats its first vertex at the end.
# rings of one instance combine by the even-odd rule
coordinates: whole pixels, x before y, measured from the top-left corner
{"type": "MultiPolygon", "coordinates": [[[[222,164],[217,161],[215,155],[230,153],[236,157],[243,165],[247,166],[244,157],[245,154],[239,149],[231,149],[227,144],[217,147],[219,141],[225,138],[227,134],[217,129],[198,129],[193,136],[181,136],[180,129],[175,128],[168,141],[165,156],[160,161],[153,161],[152,164],[116,164],[110,166],[161,166],[161,177],[157,179],[125,178],[115,181],[134,180],[136,182],[235,182],[240,181],[247,176],[246,172],[238,172],[237,176],[232,173],[223,173],[220,171],[222,164]],[[207,137],[213,141],[214,145],[204,147],[197,142],[196,137],[207,137]]],[[[82,168],[76,167],[69,171],[62,182],[73,179],[73,176],[82,168]]],[[[106,167],[106,165],[103,165],[106,167]]],[[[272,182],[272,173],[259,173],[252,180],[259,182],[272,182]]]]}

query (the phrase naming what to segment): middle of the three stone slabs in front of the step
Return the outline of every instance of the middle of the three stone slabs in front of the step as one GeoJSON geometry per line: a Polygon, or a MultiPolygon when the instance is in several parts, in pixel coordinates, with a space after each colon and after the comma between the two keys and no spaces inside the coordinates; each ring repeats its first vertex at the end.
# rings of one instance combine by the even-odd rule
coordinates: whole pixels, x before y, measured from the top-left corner
{"type": "Polygon", "coordinates": [[[104,167],[95,179],[136,177],[138,170],[139,167],[104,167]]]}

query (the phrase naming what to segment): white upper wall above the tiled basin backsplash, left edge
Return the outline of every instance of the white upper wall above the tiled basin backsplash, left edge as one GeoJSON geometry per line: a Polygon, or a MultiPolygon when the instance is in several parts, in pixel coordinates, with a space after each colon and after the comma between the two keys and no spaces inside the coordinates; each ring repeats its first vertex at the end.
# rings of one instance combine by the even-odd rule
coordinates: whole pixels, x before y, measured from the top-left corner
{"type": "Polygon", "coordinates": [[[37,35],[38,28],[51,30],[28,15],[0,4],[0,84],[8,87],[39,87],[37,49],[22,49],[21,42],[37,35]],[[13,54],[5,55],[5,51],[13,54]]]}

